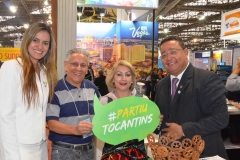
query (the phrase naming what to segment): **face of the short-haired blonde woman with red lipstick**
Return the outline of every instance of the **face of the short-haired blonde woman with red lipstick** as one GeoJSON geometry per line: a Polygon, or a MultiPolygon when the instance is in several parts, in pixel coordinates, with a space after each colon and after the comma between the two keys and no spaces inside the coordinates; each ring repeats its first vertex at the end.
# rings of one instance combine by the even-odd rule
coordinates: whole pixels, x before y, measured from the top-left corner
{"type": "Polygon", "coordinates": [[[113,81],[115,83],[116,90],[129,92],[129,88],[133,82],[131,70],[123,65],[118,66],[114,74],[113,81]]]}

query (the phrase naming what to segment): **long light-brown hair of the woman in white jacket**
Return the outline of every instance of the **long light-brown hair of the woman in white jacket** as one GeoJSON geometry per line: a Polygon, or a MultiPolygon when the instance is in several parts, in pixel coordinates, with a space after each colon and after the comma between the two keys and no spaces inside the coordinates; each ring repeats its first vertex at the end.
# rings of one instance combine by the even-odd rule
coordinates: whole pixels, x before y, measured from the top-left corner
{"type": "Polygon", "coordinates": [[[23,68],[22,92],[23,99],[27,102],[28,108],[30,108],[31,103],[36,104],[39,97],[39,92],[36,84],[36,72],[31,61],[30,53],[28,52],[28,46],[30,45],[36,34],[40,31],[47,31],[50,36],[48,52],[41,60],[39,60],[39,65],[41,68],[44,69],[47,76],[50,100],[52,100],[53,98],[54,87],[58,80],[56,70],[55,41],[53,38],[52,30],[50,26],[45,23],[34,23],[24,33],[20,51],[23,68]]]}

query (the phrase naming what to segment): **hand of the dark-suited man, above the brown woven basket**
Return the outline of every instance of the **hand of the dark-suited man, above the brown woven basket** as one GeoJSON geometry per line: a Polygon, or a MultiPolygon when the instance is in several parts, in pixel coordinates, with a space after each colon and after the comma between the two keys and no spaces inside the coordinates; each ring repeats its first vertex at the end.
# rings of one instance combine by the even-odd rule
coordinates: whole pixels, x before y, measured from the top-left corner
{"type": "Polygon", "coordinates": [[[183,136],[183,130],[182,126],[176,124],[176,123],[166,123],[168,128],[162,129],[162,131],[166,133],[173,133],[177,135],[177,139],[180,139],[183,136]]]}

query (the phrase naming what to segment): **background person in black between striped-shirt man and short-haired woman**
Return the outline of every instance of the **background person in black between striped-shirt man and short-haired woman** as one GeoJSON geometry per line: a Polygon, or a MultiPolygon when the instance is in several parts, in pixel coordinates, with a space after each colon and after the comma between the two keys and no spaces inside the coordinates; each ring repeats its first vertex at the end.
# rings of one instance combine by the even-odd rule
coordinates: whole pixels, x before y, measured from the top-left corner
{"type": "Polygon", "coordinates": [[[99,76],[95,78],[94,84],[97,86],[101,96],[108,94],[108,87],[106,85],[106,76],[103,75],[103,71],[98,71],[99,76]]]}

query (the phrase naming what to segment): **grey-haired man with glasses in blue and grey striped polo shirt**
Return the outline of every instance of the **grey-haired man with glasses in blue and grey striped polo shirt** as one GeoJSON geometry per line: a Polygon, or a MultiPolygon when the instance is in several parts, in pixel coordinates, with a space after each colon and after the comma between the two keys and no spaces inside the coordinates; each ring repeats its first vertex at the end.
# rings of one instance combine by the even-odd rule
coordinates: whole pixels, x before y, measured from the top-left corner
{"type": "Polygon", "coordinates": [[[67,74],[58,81],[47,109],[52,160],[94,159],[91,119],[94,95],[100,97],[100,94],[92,82],[84,79],[89,59],[83,49],[72,49],[66,55],[67,74]]]}

